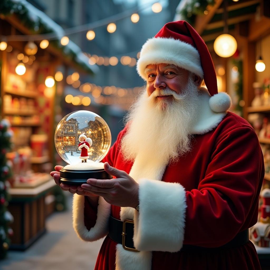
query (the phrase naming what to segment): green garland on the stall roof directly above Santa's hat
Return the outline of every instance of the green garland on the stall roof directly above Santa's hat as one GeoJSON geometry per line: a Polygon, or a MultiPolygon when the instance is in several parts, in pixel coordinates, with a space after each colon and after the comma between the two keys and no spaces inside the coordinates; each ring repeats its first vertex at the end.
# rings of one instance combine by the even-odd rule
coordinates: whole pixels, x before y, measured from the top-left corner
{"type": "Polygon", "coordinates": [[[178,11],[183,20],[194,25],[197,15],[203,15],[208,6],[215,5],[215,0],[192,0],[185,4],[184,8],[178,11]]]}

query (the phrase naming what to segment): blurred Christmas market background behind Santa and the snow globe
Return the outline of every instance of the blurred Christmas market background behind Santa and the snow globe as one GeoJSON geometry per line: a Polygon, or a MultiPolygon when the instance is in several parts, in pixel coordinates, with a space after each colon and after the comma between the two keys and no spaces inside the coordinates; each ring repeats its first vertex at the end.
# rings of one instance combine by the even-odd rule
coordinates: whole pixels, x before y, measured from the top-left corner
{"type": "MultiPolygon", "coordinates": [[[[20,269],[54,269],[48,261],[55,261],[46,256],[54,254],[56,261],[64,260],[60,259],[64,242],[57,244],[60,239],[67,241],[67,269],[78,263],[67,253],[75,252],[69,245],[77,245],[82,253],[87,251],[85,257],[76,257],[81,261],[87,261],[92,248],[91,261],[95,264],[100,243],[81,248],[71,228],[71,197],[63,194],[49,176],[56,164],[65,165],[55,150],[56,126],[73,111],[89,110],[107,122],[113,143],[124,127],[124,115],[144,89],[144,81],[136,72],[141,46],[165,23],[182,19],[206,42],[218,91],[232,97],[230,111],[248,120],[258,134],[265,157],[263,188],[269,188],[270,1],[2,0],[3,269],[17,269],[16,263],[23,265],[20,269]]],[[[259,210],[262,205],[267,205],[263,197],[259,210]]],[[[260,217],[261,212],[250,238],[257,245],[263,266],[269,263],[270,224],[259,229],[260,217]]],[[[89,262],[83,267],[89,267],[89,262]]]]}

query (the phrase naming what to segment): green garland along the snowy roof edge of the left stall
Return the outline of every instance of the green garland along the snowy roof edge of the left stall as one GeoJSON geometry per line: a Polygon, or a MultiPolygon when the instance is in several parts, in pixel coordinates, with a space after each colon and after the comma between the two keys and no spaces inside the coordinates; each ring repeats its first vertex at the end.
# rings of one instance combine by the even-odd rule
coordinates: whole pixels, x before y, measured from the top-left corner
{"type": "MultiPolygon", "coordinates": [[[[21,2],[16,2],[12,0],[1,0],[0,1],[0,15],[11,16],[16,15],[23,26],[28,28],[32,34],[47,34],[55,32],[54,29],[50,28],[48,25],[42,22],[40,18],[33,19],[31,14],[29,14],[28,9],[21,2]]],[[[56,49],[60,50],[66,57],[70,58],[73,62],[75,62],[80,68],[85,70],[87,73],[93,74],[93,70],[89,68],[82,61],[77,60],[76,52],[72,49],[63,47],[60,44],[60,40],[52,40],[50,44],[56,49]]]]}

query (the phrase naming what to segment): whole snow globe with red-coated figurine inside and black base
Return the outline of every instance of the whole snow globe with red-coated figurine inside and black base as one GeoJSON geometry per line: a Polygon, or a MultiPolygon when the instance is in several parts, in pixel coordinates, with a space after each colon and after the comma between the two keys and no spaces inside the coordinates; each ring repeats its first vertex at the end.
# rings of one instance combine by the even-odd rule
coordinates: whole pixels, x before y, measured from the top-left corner
{"type": "Polygon", "coordinates": [[[58,154],[68,163],[60,170],[60,182],[81,185],[89,178],[112,178],[100,162],[108,153],[111,141],[109,126],[96,113],[81,110],[66,115],[54,136],[58,154]]]}

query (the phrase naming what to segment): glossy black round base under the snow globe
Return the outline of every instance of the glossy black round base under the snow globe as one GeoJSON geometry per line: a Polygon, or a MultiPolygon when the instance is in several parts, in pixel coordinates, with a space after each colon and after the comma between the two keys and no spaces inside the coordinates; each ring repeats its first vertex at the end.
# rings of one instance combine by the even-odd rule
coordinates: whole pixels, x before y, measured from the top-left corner
{"type": "Polygon", "coordinates": [[[104,169],[100,170],[60,170],[60,183],[69,185],[86,184],[87,179],[111,179],[113,178],[104,169]]]}

